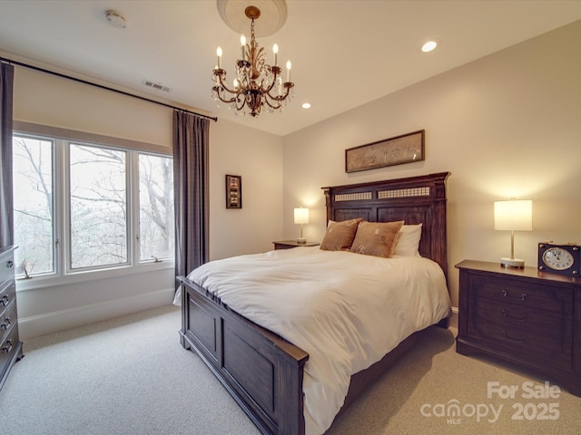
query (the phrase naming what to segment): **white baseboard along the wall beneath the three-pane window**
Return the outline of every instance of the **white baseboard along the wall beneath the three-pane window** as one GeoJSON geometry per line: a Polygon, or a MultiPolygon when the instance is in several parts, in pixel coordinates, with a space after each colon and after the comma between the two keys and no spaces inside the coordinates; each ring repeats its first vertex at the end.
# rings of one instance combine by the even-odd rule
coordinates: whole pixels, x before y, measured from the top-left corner
{"type": "Polygon", "coordinates": [[[86,304],[66,310],[54,311],[18,319],[18,335],[25,341],[48,333],[57,333],[84,324],[93,324],[120,315],[137,313],[156,306],[172,304],[173,288],[146,294],[127,296],[86,304]]]}

